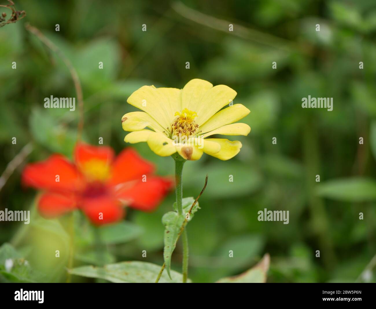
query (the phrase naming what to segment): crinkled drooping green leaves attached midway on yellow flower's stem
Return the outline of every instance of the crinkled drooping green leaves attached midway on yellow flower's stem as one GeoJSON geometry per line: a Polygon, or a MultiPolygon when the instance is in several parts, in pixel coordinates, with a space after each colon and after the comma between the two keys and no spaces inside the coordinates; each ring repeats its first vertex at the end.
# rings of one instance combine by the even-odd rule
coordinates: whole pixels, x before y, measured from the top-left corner
{"type": "MultiPolygon", "coordinates": [[[[167,270],[168,276],[171,278],[170,268],[171,268],[171,255],[174,252],[177,239],[179,238],[180,230],[185,220],[185,213],[187,213],[194,202],[193,197],[185,197],[182,200],[183,215],[177,214],[177,211],[170,211],[165,213],[162,217],[162,223],[165,226],[164,231],[164,249],[163,249],[163,258],[167,270]]],[[[176,202],[173,205],[174,209],[177,210],[176,202]]],[[[199,203],[196,203],[192,209],[190,221],[193,217],[193,213],[199,210],[199,203]]]]}

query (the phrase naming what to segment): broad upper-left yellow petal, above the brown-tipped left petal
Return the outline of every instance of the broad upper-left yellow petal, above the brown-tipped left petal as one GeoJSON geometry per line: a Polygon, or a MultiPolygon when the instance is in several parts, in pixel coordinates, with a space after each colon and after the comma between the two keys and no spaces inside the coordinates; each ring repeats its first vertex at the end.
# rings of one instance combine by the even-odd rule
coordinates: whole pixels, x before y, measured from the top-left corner
{"type": "Polygon", "coordinates": [[[170,126],[169,109],[165,107],[165,96],[154,86],[143,86],[127,99],[130,105],[148,113],[165,130],[170,126]]]}

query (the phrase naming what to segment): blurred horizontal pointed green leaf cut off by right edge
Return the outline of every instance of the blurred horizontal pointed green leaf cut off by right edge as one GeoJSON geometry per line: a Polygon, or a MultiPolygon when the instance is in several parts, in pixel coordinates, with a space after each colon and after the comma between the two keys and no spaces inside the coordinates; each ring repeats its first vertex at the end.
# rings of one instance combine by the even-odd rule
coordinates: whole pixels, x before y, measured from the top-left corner
{"type": "Polygon", "coordinates": [[[376,200],[376,181],[366,177],[335,179],[319,184],[317,194],[345,202],[376,200]]]}

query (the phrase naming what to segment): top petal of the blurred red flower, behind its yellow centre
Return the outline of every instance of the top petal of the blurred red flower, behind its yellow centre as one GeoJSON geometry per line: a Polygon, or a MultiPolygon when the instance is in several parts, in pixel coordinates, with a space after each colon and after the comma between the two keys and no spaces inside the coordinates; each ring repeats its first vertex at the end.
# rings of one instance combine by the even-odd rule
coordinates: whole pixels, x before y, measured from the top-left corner
{"type": "Polygon", "coordinates": [[[78,143],[74,150],[74,160],[78,167],[81,167],[86,161],[90,160],[104,161],[111,164],[114,159],[114,150],[107,146],[91,146],[88,144],[78,143]]]}

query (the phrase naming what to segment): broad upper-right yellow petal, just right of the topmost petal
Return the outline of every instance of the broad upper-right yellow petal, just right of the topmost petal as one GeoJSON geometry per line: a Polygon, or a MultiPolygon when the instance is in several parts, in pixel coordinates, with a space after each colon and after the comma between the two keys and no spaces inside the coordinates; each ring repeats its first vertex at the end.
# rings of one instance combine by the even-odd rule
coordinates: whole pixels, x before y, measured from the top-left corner
{"type": "Polygon", "coordinates": [[[199,106],[194,112],[197,113],[196,122],[198,125],[204,124],[218,110],[224,107],[235,98],[236,91],[225,85],[214,86],[205,92],[199,102],[199,106]]]}

